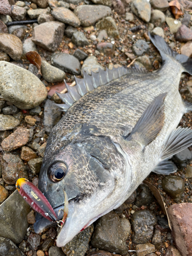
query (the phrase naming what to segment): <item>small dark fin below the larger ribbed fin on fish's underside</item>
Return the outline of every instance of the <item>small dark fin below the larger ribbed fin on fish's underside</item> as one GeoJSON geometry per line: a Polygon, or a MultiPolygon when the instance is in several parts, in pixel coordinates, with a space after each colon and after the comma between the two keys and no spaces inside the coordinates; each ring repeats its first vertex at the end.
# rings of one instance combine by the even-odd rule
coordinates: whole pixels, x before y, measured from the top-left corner
{"type": "Polygon", "coordinates": [[[177,166],[172,161],[162,161],[160,162],[152,172],[156,174],[169,175],[177,171],[177,166]]]}

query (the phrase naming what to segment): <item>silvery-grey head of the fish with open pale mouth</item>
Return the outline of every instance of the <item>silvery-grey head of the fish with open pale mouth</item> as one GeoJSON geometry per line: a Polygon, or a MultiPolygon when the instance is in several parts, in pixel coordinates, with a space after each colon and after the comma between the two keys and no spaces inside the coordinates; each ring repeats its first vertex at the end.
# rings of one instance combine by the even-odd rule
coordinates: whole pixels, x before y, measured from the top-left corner
{"type": "Polygon", "coordinates": [[[39,189],[54,209],[65,202],[63,190],[69,200],[68,217],[57,237],[57,246],[62,247],[115,207],[123,189],[125,161],[109,137],[90,135],[77,136],[51,161],[46,159],[39,189]]]}

